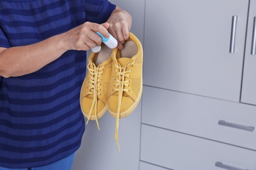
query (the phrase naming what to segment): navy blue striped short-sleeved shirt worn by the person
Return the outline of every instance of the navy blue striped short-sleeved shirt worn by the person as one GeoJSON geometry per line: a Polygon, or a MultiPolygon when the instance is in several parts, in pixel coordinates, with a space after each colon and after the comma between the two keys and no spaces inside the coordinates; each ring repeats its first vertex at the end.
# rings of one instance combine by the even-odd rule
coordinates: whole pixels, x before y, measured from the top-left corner
{"type": "MultiPolygon", "coordinates": [[[[106,0],[1,0],[0,46],[24,46],[86,21],[106,22],[106,0]]],[[[0,167],[47,165],[74,153],[85,129],[79,92],[86,52],[69,50],[39,71],[0,76],[0,167]]]]}

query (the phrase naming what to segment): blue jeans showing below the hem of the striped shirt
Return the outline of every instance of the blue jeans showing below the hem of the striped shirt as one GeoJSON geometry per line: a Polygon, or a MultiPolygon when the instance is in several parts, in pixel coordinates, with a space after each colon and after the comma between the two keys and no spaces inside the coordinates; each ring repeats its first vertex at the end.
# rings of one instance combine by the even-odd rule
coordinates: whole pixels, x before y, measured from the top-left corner
{"type": "Polygon", "coordinates": [[[74,156],[75,153],[66,158],[63,158],[62,160],[55,161],[54,163],[42,167],[30,167],[23,169],[10,169],[6,167],[0,167],[0,170],[70,170],[72,167],[74,156]]]}

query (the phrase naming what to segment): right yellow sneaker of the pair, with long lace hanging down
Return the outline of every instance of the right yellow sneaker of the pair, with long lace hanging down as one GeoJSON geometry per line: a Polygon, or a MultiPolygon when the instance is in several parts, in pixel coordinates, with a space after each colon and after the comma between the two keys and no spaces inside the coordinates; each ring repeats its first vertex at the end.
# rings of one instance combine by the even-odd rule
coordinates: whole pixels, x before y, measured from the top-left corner
{"type": "Polygon", "coordinates": [[[116,143],[118,142],[119,118],[124,118],[137,107],[142,95],[142,45],[129,33],[122,50],[112,55],[112,73],[108,92],[108,110],[116,118],[116,143]]]}

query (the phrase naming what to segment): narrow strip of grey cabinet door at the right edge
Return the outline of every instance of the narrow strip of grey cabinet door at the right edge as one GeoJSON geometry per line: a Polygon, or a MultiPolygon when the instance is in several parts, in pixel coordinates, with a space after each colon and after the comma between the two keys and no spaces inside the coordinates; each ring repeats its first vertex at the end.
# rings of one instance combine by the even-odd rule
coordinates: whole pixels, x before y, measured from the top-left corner
{"type": "MultiPolygon", "coordinates": [[[[250,103],[256,105],[256,55],[252,53],[253,41],[255,43],[256,39],[253,40],[253,35],[254,37],[256,37],[255,0],[251,1],[249,9],[241,101],[243,103],[250,103]]],[[[255,46],[254,50],[256,52],[255,46]]]]}

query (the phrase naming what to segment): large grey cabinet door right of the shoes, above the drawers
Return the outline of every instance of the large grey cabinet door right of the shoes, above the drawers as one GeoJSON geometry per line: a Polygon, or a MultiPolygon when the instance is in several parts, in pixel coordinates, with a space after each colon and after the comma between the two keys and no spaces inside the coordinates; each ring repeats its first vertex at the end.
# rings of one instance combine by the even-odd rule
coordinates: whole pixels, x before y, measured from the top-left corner
{"type": "Polygon", "coordinates": [[[240,101],[247,0],[146,0],[145,9],[144,84],[240,101]]]}

